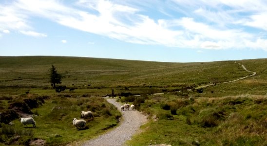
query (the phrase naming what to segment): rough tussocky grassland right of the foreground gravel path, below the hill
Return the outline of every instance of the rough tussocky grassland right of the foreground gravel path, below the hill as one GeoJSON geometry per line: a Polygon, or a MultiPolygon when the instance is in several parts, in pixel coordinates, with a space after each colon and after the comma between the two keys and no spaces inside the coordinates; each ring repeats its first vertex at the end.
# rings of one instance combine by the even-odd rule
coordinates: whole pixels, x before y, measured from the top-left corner
{"type": "Polygon", "coordinates": [[[267,96],[181,98],[170,94],[150,96],[140,108],[151,121],[131,146],[266,146],[267,96]],[[170,106],[170,109],[166,108],[170,106]],[[175,113],[172,109],[175,109],[175,113]]]}

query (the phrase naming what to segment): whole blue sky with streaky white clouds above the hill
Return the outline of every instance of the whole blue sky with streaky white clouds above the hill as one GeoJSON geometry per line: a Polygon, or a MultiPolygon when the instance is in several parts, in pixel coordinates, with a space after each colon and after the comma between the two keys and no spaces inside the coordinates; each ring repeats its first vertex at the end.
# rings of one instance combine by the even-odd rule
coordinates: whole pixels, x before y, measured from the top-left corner
{"type": "Polygon", "coordinates": [[[0,0],[0,56],[267,58],[267,0],[0,0]]]}

